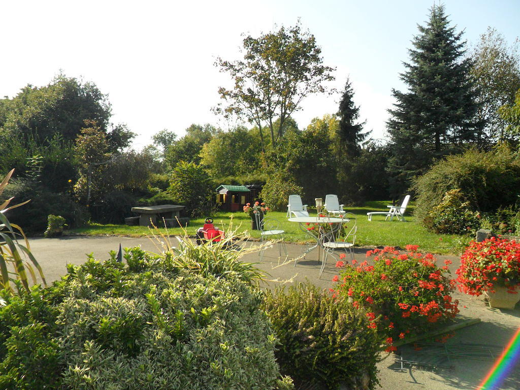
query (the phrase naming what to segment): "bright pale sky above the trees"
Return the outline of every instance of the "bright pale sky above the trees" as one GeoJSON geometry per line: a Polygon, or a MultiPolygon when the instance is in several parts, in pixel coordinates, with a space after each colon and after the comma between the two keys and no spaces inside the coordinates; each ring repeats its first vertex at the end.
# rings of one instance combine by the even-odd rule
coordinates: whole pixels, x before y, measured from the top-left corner
{"type": "MultiPolygon", "coordinates": [[[[228,123],[211,108],[217,89],[230,78],[214,66],[217,57],[241,59],[242,34],[259,36],[290,27],[316,37],[323,64],[334,67],[329,86],[340,92],[347,77],[372,137],[386,139],[392,88],[408,49],[425,25],[433,0],[245,2],[149,0],[2,1],[0,96],[12,98],[25,85],[44,86],[60,72],[93,82],[112,105],[114,124],[126,123],[137,137],[133,147],[151,144],[168,129],[179,137],[192,123],[228,123]]],[[[439,4],[438,0],[435,4],[439,4]]],[[[446,14],[464,31],[468,48],[488,27],[513,44],[520,35],[520,0],[445,0],[446,14]]],[[[337,111],[340,95],[309,96],[293,115],[305,128],[316,117],[337,111]]]]}

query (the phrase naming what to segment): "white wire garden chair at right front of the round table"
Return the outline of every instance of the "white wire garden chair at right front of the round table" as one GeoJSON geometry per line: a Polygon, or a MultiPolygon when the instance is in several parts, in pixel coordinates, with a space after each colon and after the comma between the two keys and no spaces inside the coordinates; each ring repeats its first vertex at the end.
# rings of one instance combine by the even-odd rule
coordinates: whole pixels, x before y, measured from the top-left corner
{"type": "Polygon", "coordinates": [[[323,269],[325,269],[325,265],[327,264],[327,257],[329,254],[334,256],[334,251],[344,250],[346,253],[348,250],[350,252],[350,259],[354,260],[353,247],[356,243],[357,233],[356,216],[352,213],[345,213],[341,218],[342,222],[340,224],[327,223],[327,220],[325,220],[325,222],[320,226],[322,237],[321,246],[323,247],[323,261],[321,262],[320,278],[323,269]],[[346,233],[342,239],[341,236],[347,230],[348,233],[346,233]]]}

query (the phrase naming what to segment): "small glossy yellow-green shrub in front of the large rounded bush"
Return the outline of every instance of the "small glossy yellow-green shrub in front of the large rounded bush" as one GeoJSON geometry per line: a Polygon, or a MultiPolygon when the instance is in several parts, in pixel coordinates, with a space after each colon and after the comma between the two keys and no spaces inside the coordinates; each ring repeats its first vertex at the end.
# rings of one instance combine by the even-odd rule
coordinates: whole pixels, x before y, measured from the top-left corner
{"type": "Polygon", "coordinates": [[[436,233],[458,235],[478,230],[478,215],[470,210],[470,203],[459,188],[447,191],[443,200],[428,213],[431,228],[436,233]]]}

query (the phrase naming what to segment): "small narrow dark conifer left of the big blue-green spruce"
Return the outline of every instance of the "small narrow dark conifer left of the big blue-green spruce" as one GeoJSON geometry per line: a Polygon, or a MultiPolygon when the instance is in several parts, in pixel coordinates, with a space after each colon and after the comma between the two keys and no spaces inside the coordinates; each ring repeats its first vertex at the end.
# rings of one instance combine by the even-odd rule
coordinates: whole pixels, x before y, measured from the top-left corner
{"type": "Polygon", "coordinates": [[[356,123],[359,119],[359,106],[354,104],[353,99],[352,83],[347,79],[340,108],[337,112],[340,120],[340,126],[337,129],[337,141],[340,149],[343,149],[343,153],[346,152],[348,158],[359,156],[361,144],[370,134],[370,132],[363,133],[363,126],[367,121],[356,123]]]}

